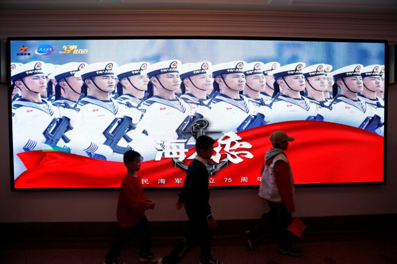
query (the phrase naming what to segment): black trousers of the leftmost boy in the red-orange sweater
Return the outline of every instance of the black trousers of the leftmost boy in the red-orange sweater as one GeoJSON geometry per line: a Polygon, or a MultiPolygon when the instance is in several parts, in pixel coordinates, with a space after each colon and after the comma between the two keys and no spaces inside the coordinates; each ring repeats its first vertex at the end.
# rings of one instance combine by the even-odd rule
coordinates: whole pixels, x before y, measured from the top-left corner
{"type": "Polygon", "coordinates": [[[106,257],[112,259],[120,256],[121,251],[127,246],[133,236],[140,241],[140,253],[149,253],[151,247],[150,227],[146,216],[138,223],[129,227],[119,227],[119,234],[106,257]]]}

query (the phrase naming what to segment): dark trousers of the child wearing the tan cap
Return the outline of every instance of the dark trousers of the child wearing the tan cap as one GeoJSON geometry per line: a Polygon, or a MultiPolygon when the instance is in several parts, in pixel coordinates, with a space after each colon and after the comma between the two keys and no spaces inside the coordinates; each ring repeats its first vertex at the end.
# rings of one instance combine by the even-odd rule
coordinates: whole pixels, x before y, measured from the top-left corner
{"type": "Polygon", "coordinates": [[[284,204],[276,204],[269,202],[270,211],[262,214],[261,219],[251,230],[251,238],[256,239],[263,230],[269,225],[275,225],[277,234],[280,239],[280,247],[288,247],[291,245],[291,234],[287,228],[292,221],[292,215],[288,212],[284,204]]]}

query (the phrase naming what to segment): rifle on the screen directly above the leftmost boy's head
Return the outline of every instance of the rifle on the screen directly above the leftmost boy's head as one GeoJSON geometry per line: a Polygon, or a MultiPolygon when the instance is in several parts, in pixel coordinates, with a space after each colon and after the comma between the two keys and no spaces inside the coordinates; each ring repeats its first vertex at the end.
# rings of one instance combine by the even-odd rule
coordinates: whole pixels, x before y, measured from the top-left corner
{"type": "Polygon", "coordinates": [[[109,146],[115,153],[124,154],[126,151],[132,150],[131,147],[120,147],[117,144],[124,138],[127,142],[131,142],[132,138],[127,135],[127,132],[135,129],[132,124],[132,118],[129,116],[117,117],[112,123],[103,131],[106,138],[105,145],[109,146]]]}

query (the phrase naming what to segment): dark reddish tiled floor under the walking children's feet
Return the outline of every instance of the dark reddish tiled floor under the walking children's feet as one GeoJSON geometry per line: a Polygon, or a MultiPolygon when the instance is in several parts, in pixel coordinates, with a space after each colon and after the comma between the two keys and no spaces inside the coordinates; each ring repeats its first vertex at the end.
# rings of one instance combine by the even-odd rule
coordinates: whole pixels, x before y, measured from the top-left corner
{"type": "MultiPolygon", "coordinates": [[[[153,253],[164,256],[179,238],[153,238],[153,253]]],[[[25,239],[1,243],[0,264],[101,264],[111,238],[25,239]]],[[[212,255],[225,264],[390,264],[397,263],[397,239],[390,234],[315,234],[295,243],[303,256],[278,254],[275,239],[265,237],[249,251],[243,236],[215,236],[212,255]]],[[[132,241],[120,259],[138,263],[137,242],[132,241]]],[[[183,264],[197,264],[199,249],[193,249],[183,264]]]]}

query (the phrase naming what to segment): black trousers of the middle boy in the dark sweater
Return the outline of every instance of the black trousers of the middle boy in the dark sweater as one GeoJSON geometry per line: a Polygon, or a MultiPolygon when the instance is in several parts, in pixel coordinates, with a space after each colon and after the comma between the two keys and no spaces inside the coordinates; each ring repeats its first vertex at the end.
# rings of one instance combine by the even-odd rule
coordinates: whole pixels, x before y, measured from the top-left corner
{"type": "Polygon", "coordinates": [[[201,247],[200,258],[208,260],[211,257],[212,228],[208,227],[207,218],[189,214],[188,217],[188,235],[165,257],[166,263],[181,262],[195,246],[201,247]]]}

